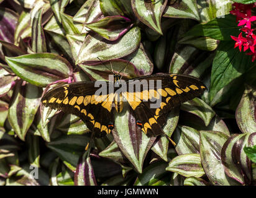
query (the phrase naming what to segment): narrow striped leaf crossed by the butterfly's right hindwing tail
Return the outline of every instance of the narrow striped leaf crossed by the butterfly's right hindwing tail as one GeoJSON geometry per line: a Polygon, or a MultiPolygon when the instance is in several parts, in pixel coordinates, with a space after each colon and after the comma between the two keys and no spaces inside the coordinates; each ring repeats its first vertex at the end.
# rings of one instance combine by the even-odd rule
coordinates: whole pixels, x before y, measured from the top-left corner
{"type": "MultiPolygon", "coordinates": [[[[167,123],[165,124],[165,126],[163,126],[163,132],[165,132],[168,137],[171,137],[171,134],[173,134],[173,131],[178,124],[179,113],[180,110],[178,110],[178,108],[175,108],[167,115],[167,123]]],[[[170,140],[168,140],[166,137],[160,137],[160,139],[155,142],[151,150],[157,153],[157,155],[159,155],[163,160],[168,161],[167,152],[169,142],[170,140]]]]}

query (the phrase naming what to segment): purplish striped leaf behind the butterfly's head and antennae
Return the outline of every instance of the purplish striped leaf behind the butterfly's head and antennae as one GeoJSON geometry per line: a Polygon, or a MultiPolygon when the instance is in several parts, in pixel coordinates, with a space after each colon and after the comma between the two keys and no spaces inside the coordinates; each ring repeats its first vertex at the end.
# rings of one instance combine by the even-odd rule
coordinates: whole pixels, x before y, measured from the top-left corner
{"type": "Polygon", "coordinates": [[[139,71],[136,67],[128,61],[124,61],[122,59],[114,59],[106,62],[98,62],[94,65],[84,65],[80,64],[81,69],[85,71],[85,73],[90,77],[91,80],[107,80],[114,81],[111,65],[114,72],[120,72],[122,69],[126,68],[125,72],[121,72],[120,75],[124,76],[124,79],[132,79],[138,77],[140,75],[139,71]],[[109,78],[112,79],[109,79],[109,78]]]}

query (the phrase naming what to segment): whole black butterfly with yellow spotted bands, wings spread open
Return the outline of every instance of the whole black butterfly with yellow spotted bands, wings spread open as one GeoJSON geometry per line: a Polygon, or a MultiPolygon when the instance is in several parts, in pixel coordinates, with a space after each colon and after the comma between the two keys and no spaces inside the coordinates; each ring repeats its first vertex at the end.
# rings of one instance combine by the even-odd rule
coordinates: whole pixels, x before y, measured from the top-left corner
{"type": "Polygon", "coordinates": [[[124,105],[127,105],[135,116],[135,124],[148,137],[156,137],[164,135],[162,126],[169,111],[185,101],[199,97],[206,90],[199,79],[185,74],[144,75],[122,80],[122,83],[121,78],[120,74],[114,74],[114,82],[101,81],[97,84],[97,81],[82,81],[65,84],[52,88],[43,95],[41,101],[52,109],[80,117],[97,138],[111,133],[115,111],[121,113],[124,105]],[[122,88],[134,86],[135,90],[121,90],[121,84],[122,88]],[[98,92],[100,88],[101,93],[98,92]]]}

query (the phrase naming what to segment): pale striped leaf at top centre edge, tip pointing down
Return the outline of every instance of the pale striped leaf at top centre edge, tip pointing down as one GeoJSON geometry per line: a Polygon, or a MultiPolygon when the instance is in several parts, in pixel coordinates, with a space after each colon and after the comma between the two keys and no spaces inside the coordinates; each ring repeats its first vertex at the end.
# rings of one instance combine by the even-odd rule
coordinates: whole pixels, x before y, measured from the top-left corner
{"type": "Polygon", "coordinates": [[[156,32],[163,34],[161,27],[162,14],[167,5],[167,0],[163,1],[142,1],[132,0],[132,10],[137,18],[156,32]]]}

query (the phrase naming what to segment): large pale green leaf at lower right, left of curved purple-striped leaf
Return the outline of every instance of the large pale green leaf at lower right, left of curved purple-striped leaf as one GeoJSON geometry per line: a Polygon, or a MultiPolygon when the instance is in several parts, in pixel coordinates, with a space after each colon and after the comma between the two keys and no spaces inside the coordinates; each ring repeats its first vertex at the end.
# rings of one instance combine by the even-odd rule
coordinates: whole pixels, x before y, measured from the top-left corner
{"type": "Polygon", "coordinates": [[[226,176],[221,161],[221,149],[229,136],[219,131],[200,131],[199,135],[201,162],[211,183],[221,186],[237,185],[226,176]]]}

